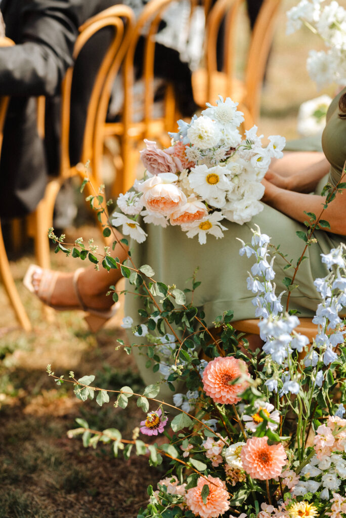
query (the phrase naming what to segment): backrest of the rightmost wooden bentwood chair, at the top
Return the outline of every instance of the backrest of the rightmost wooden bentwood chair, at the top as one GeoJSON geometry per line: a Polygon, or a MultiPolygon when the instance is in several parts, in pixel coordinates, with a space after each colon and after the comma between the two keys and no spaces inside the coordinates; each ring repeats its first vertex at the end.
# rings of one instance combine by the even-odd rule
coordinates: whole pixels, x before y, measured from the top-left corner
{"type": "MultiPolygon", "coordinates": [[[[245,0],[217,0],[209,12],[205,39],[205,67],[209,81],[207,96],[211,91],[210,81],[213,75],[218,72],[217,43],[222,24],[224,24],[224,56],[221,72],[226,76],[225,91],[227,95],[231,97],[233,95],[233,100],[243,102],[251,112],[252,117],[256,119],[280,0],[264,0],[261,9],[259,9],[245,58],[244,77],[242,79],[245,95],[242,99],[237,99],[234,98],[234,92],[237,91],[237,45],[239,18],[243,9],[245,9],[244,4],[245,0]]],[[[243,28],[243,25],[240,26],[243,28]]],[[[208,100],[214,101],[215,99],[208,100]]]]}

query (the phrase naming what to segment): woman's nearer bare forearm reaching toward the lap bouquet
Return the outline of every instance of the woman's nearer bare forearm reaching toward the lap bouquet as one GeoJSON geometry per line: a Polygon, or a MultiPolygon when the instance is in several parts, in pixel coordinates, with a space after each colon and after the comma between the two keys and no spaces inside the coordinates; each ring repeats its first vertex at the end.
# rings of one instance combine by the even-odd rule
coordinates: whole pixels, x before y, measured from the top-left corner
{"type": "Polygon", "coordinates": [[[333,202],[323,210],[325,196],[288,191],[269,182],[265,182],[265,187],[263,201],[271,207],[301,223],[309,219],[305,211],[313,212],[317,218],[323,211],[321,219],[328,221],[330,225],[330,228],[323,229],[346,235],[346,194],[337,193],[333,202]]]}

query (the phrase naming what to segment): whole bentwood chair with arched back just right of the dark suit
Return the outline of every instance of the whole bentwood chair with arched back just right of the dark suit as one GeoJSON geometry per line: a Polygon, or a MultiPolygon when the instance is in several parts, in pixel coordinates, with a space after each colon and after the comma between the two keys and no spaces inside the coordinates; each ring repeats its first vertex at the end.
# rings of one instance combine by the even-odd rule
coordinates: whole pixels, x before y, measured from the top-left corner
{"type": "MultiPolygon", "coordinates": [[[[105,121],[106,116],[104,114],[104,120],[102,121],[102,118],[99,117],[99,112],[103,103],[108,105],[110,83],[112,78],[116,76],[128,47],[133,20],[134,14],[132,9],[124,5],[116,5],[98,13],[79,28],[80,34],[76,40],[73,54],[75,64],[66,71],[62,84],[60,174],[48,182],[45,197],[31,215],[29,223],[31,233],[35,238],[36,260],[43,268],[50,267],[47,232],[48,228],[52,226],[55,199],[62,184],[71,177],[77,176],[81,180],[88,177],[90,182],[86,183],[85,189],[89,195],[94,195],[95,192],[98,194],[99,186],[102,184],[98,162],[95,160],[95,135],[100,131],[100,126],[105,121]],[[92,52],[93,47],[90,46],[88,48],[87,45],[95,35],[99,35],[105,29],[111,30],[112,36],[108,41],[103,59],[100,60],[95,74],[86,111],[80,160],[76,165],[71,165],[70,117],[71,108],[73,107],[71,105],[71,87],[73,87],[75,78],[76,63],[78,63],[78,57],[81,56],[86,61],[86,65],[88,65],[88,52],[92,52]],[[86,163],[89,164],[87,170],[85,169],[86,163]]],[[[86,73],[88,73],[88,67],[86,67],[86,73]]],[[[78,80],[80,83],[81,79],[78,78],[78,80]]],[[[44,120],[44,110],[42,110],[42,105],[41,107],[39,105],[39,128],[44,126],[42,119],[44,120]]],[[[99,222],[101,227],[103,223],[104,221],[99,222]]]]}

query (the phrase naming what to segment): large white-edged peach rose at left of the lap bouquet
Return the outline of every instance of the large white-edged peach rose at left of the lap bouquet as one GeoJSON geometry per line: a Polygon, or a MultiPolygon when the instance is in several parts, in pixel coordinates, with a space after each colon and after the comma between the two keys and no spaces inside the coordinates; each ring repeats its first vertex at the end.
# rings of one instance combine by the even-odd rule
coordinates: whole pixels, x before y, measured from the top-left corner
{"type": "Polygon", "coordinates": [[[161,177],[153,176],[140,186],[143,195],[141,203],[151,212],[168,216],[186,203],[185,194],[173,183],[165,183],[161,177]]]}

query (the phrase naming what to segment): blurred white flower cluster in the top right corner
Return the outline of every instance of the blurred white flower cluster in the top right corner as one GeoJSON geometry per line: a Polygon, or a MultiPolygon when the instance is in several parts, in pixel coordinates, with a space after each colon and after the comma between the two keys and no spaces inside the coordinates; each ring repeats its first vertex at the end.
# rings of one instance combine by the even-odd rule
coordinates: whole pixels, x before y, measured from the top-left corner
{"type": "Polygon", "coordinates": [[[333,82],[346,84],[346,10],[335,0],[321,6],[324,0],[301,0],[287,11],[286,34],[293,34],[303,25],[325,42],[327,51],[311,50],[307,69],[318,88],[333,82]]]}

